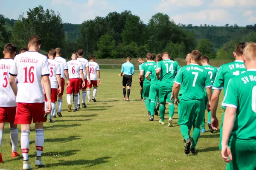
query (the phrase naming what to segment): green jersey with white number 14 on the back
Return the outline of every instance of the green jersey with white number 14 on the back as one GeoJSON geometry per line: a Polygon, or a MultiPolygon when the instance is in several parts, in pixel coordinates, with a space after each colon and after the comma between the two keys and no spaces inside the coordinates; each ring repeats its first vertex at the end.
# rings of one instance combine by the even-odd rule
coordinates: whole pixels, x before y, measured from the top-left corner
{"type": "Polygon", "coordinates": [[[165,59],[157,63],[157,69],[160,69],[160,84],[159,87],[173,86],[175,74],[180,70],[177,61],[165,59]]]}

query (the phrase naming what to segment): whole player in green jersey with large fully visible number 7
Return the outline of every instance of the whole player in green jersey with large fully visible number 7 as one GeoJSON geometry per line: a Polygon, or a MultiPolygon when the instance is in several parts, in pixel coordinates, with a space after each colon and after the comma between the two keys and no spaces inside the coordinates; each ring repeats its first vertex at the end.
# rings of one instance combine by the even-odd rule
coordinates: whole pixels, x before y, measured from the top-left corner
{"type": "MultiPolygon", "coordinates": [[[[186,140],[185,153],[195,153],[195,147],[200,136],[200,125],[204,118],[205,111],[205,96],[204,88],[206,88],[207,96],[210,101],[212,95],[212,83],[208,72],[204,67],[197,63],[200,61],[200,52],[194,50],[190,54],[191,64],[186,65],[180,69],[174,80],[173,94],[175,95],[175,105],[180,105],[180,114],[178,124],[180,131],[186,140]],[[182,93],[182,101],[178,99],[180,85],[186,91],[182,93]],[[189,128],[194,127],[192,142],[189,139],[189,128]],[[190,145],[192,143],[191,149],[190,145]]],[[[209,108],[209,103],[208,103],[209,108]]]]}

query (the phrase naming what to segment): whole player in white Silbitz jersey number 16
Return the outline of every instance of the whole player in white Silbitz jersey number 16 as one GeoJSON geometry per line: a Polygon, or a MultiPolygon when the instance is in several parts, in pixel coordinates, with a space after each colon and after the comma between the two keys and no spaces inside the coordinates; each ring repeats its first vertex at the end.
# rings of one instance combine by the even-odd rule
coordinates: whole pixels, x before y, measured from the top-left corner
{"type": "Polygon", "coordinates": [[[49,80],[48,59],[38,53],[41,47],[41,39],[32,36],[29,39],[29,51],[18,54],[9,71],[10,85],[16,96],[17,112],[15,124],[21,125],[20,146],[23,155],[23,170],[31,169],[29,164],[29,133],[33,119],[35,123],[35,166],[44,166],[41,154],[44,147],[44,113],[51,113],[51,85],[49,80]],[[19,80],[19,88],[17,82],[19,80]],[[45,95],[48,100],[47,111],[44,111],[44,92],[41,84],[44,84],[45,95]]]}

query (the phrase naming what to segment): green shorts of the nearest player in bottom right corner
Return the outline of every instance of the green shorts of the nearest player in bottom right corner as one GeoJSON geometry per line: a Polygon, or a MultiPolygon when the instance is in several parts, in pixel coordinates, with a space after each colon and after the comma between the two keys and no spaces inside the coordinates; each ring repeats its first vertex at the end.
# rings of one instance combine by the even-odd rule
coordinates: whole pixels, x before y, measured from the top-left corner
{"type": "Polygon", "coordinates": [[[256,140],[241,140],[235,137],[230,145],[233,160],[230,170],[256,170],[256,140]]]}

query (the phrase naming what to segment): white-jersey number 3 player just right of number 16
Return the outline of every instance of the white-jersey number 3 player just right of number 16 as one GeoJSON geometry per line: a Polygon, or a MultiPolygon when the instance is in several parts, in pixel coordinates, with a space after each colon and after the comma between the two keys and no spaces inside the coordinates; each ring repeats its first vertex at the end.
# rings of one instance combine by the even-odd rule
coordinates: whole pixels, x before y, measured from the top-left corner
{"type": "MultiPolygon", "coordinates": [[[[49,65],[49,79],[51,82],[51,99],[52,99],[52,112],[50,114],[49,123],[53,123],[53,113],[55,111],[55,102],[57,101],[58,94],[61,93],[61,67],[60,64],[54,60],[56,57],[56,51],[50,50],[48,53],[48,65],[49,65]]],[[[44,88],[43,88],[44,89],[44,88]]],[[[47,105],[47,97],[45,96],[45,105],[47,105]]],[[[47,109],[45,109],[47,110],[47,109]]],[[[45,121],[47,120],[47,114],[44,115],[45,121]]]]}

